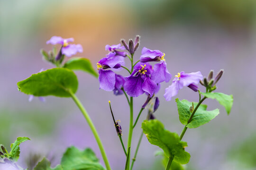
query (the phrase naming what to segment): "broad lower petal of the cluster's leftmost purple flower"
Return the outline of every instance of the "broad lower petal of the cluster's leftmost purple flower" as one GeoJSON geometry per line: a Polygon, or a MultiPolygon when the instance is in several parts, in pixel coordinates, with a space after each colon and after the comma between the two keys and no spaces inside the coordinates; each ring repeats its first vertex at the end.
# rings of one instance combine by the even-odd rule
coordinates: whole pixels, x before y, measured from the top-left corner
{"type": "Polygon", "coordinates": [[[100,88],[105,91],[112,91],[115,88],[116,74],[111,70],[99,70],[100,88]]]}

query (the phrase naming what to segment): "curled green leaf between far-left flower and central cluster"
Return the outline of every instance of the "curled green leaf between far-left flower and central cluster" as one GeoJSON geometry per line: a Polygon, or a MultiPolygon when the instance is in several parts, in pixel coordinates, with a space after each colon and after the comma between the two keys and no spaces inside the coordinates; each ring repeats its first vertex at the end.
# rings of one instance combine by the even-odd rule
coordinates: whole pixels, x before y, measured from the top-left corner
{"type": "Polygon", "coordinates": [[[92,76],[98,78],[98,73],[91,66],[91,62],[89,59],[85,59],[82,57],[73,57],[72,59],[69,59],[63,67],[72,70],[85,71],[87,73],[90,73],[92,76]]]}

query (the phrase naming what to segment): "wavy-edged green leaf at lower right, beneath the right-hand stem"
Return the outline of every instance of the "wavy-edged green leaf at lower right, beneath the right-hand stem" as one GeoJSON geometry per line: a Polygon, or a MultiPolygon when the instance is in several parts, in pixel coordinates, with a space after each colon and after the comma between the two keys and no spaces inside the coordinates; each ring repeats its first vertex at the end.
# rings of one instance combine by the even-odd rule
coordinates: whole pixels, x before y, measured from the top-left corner
{"type": "Polygon", "coordinates": [[[162,148],[167,157],[174,155],[174,161],[181,164],[189,162],[190,154],[184,150],[187,143],[181,141],[177,133],[166,130],[159,120],[144,120],[142,129],[149,143],[162,148]]]}

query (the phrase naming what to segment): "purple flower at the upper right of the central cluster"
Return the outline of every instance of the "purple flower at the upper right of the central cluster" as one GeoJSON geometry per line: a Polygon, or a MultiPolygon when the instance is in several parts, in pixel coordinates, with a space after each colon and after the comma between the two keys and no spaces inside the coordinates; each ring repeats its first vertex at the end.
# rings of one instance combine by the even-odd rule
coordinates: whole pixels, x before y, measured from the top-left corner
{"type": "Polygon", "coordinates": [[[160,61],[160,63],[155,64],[154,71],[151,74],[151,79],[155,83],[161,83],[163,81],[169,82],[172,78],[172,75],[166,68],[165,62],[165,53],[159,50],[150,50],[146,47],[143,47],[140,56],[140,62],[149,62],[149,61],[160,61]]]}

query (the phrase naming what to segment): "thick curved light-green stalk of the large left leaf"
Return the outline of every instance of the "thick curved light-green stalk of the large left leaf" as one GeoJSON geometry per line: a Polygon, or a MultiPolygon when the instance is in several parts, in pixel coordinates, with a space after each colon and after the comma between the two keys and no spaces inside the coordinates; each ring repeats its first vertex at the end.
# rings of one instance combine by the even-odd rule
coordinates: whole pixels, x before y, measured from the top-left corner
{"type": "Polygon", "coordinates": [[[100,148],[100,151],[101,151],[101,155],[102,155],[102,158],[103,158],[103,161],[105,162],[105,165],[106,165],[106,168],[107,170],[111,170],[110,168],[110,163],[108,161],[108,158],[107,158],[107,155],[105,153],[105,150],[104,150],[104,147],[103,147],[103,144],[101,143],[101,139],[100,139],[100,136],[98,135],[98,132],[95,128],[95,126],[93,125],[92,121],[91,121],[91,118],[89,116],[89,114],[87,113],[87,111],[85,110],[85,108],[83,107],[82,103],[79,101],[79,99],[76,97],[76,95],[71,92],[71,91],[68,91],[68,93],[70,93],[73,101],[75,102],[75,104],[78,106],[78,108],[81,110],[84,118],[86,119],[89,127],[91,128],[91,131],[99,145],[99,148],[100,148]]]}

